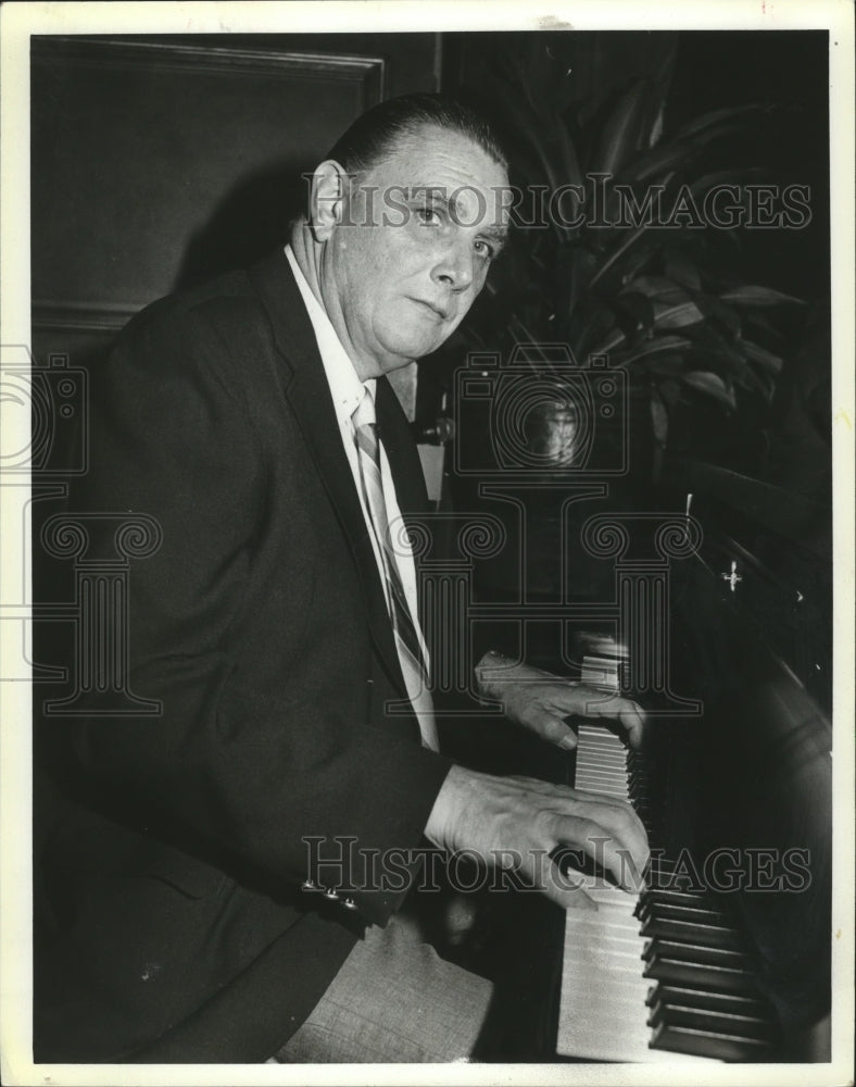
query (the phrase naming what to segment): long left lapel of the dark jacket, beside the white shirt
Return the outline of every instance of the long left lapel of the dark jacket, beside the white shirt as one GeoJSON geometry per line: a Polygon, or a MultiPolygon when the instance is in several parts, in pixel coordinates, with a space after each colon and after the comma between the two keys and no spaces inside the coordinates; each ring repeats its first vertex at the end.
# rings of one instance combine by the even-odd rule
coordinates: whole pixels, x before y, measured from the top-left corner
{"type": "MultiPolygon", "coordinates": [[[[339,440],[339,424],[312,322],[284,253],[276,253],[251,268],[248,274],[270,320],[279,351],[280,380],[286,399],[291,404],[356,563],[375,648],[394,686],[405,697],[380,574],[351,466],[339,440]]],[[[392,397],[395,396],[392,389],[388,391],[392,397]]],[[[393,426],[398,440],[400,426],[393,426]]],[[[415,451],[413,455],[416,455],[415,451]]],[[[405,468],[405,472],[410,474],[410,468],[405,468]]]]}

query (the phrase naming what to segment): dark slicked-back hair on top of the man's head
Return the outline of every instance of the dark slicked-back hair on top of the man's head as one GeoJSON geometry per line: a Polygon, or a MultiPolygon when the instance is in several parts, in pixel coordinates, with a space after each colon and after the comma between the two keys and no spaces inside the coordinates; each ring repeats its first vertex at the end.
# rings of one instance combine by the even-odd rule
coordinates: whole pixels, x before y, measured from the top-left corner
{"type": "Polygon", "coordinates": [[[484,116],[455,98],[429,93],[402,95],[375,105],[354,121],[326,158],[349,174],[370,170],[402,140],[431,125],[467,137],[507,170],[507,157],[484,116]]]}

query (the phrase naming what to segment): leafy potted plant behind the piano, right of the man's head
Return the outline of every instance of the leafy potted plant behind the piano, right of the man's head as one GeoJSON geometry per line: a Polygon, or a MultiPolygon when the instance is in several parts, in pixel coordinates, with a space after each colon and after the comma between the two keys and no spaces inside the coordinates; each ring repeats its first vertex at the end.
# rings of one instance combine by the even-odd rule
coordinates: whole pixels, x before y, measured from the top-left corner
{"type": "MultiPolygon", "coordinates": [[[[521,342],[561,342],[580,366],[608,357],[627,374],[632,466],[649,482],[660,479],[670,445],[728,460],[718,421],[753,436],[738,460],[757,459],[803,303],[741,276],[740,224],[758,212],[759,172],[712,157],[760,111],[717,110],[669,130],[668,64],[612,95],[577,97],[563,40],[570,50],[571,36],[549,35],[528,55],[513,46],[492,54],[487,97],[511,134],[521,228],[463,342],[504,355],[521,342]]],[[[778,213],[803,213],[800,196],[778,213]]],[[[554,410],[541,407],[534,448],[567,453],[567,409],[561,395],[554,410]]]]}

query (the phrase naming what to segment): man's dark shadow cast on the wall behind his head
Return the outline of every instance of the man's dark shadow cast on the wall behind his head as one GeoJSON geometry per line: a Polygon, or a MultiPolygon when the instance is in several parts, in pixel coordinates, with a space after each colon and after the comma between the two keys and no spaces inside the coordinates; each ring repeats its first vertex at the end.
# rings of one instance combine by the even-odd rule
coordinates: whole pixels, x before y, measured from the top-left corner
{"type": "Polygon", "coordinates": [[[173,290],[249,267],[284,246],[289,223],[306,204],[303,175],[314,166],[314,162],[279,163],[239,182],[190,238],[173,290]]]}

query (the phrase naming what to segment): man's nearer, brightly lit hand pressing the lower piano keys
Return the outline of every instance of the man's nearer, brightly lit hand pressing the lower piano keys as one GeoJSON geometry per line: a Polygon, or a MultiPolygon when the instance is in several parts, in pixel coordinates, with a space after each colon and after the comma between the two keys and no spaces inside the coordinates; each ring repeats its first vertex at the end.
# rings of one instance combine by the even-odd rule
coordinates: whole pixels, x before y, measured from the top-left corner
{"type": "Polygon", "coordinates": [[[594,909],[586,879],[550,860],[557,847],[582,850],[626,890],[639,889],[647,836],[632,808],[527,777],[494,777],[453,766],[425,834],[451,852],[474,851],[489,869],[514,869],[564,909],[594,909]]]}

